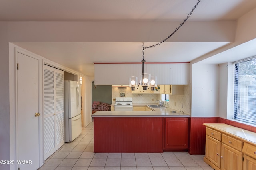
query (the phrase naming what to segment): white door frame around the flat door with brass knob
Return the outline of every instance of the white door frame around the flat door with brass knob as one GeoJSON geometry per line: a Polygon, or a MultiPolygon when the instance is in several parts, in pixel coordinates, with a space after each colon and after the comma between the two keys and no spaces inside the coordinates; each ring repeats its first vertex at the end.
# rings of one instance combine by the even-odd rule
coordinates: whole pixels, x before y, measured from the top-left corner
{"type": "MultiPolygon", "coordinates": [[[[18,158],[18,105],[17,105],[17,56],[16,53],[22,53],[38,60],[38,106],[39,113],[43,113],[42,105],[42,58],[29,51],[22,50],[16,45],[9,43],[9,83],[10,83],[10,160],[17,162],[18,158]]],[[[39,118],[39,165],[44,164],[43,158],[43,117],[39,118]]],[[[18,164],[11,164],[10,169],[18,169],[18,164]]]]}

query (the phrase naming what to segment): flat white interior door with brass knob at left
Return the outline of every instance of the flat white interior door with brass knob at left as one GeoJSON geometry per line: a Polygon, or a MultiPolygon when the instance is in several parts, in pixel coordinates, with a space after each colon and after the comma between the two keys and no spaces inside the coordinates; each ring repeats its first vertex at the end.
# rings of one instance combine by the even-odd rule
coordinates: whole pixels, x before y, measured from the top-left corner
{"type": "MultiPolygon", "coordinates": [[[[17,52],[17,161],[20,170],[39,168],[38,60],[17,52]]],[[[15,162],[16,163],[16,162],[15,162]]]]}

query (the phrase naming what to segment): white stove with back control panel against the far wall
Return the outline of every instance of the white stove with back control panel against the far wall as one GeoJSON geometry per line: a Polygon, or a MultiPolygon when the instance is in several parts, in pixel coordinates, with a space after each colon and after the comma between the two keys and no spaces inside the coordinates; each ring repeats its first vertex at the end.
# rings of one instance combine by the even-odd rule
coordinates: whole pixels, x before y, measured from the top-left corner
{"type": "Polygon", "coordinates": [[[132,110],[132,97],[116,97],[115,111],[132,110]]]}

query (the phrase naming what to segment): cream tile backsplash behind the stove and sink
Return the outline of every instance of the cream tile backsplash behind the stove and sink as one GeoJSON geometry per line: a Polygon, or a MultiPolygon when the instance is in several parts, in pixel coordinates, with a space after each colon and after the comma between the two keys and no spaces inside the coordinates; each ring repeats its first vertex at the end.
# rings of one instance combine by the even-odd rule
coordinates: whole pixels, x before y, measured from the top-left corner
{"type": "MultiPolygon", "coordinates": [[[[131,88],[118,88],[112,87],[112,103],[115,103],[116,97],[120,97],[120,92],[125,92],[126,97],[132,97],[132,103],[145,103],[153,104],[157,100],[161,100],[161,94],[133,94],[131,88]]],[[[183,95],[169,95],[169,101],[165,101],[166,107],[177,111],[184,111],[184,113],[190,114],[190,86],[184,85],[183,95]]]]}

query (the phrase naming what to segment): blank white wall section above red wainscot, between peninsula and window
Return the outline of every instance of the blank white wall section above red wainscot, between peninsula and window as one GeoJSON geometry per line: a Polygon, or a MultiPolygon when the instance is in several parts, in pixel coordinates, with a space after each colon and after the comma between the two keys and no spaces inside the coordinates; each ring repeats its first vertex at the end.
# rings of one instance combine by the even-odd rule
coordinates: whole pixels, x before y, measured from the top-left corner
{"type": "Polygon", "coordinates": [[[192,65],[192,117],[218,116],[218,65],[192,65]]]}

